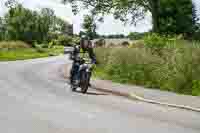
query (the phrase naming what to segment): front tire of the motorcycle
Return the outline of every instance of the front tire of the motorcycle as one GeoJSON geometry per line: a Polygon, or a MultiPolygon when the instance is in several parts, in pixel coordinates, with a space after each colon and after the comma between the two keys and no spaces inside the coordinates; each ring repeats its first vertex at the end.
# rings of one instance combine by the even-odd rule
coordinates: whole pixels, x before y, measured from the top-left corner
{"type": "Polygon", "coordinates": [[[89,73],[85,71],[81,72],[80,88],[83,94],[87,93],[87,90],[89,88],[89,81],[90,81],[89,73]]]}

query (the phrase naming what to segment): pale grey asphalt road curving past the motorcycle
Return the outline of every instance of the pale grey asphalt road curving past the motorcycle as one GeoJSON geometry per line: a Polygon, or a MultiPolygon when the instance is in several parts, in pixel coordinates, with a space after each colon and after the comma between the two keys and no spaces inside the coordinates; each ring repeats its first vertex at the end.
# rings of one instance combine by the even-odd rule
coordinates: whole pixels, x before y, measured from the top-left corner
{"type": "Polygon", "coordinates": [[[0,63],[1,133],[200,133],[200,113],[72,93],[66,57],[0,63]]]}

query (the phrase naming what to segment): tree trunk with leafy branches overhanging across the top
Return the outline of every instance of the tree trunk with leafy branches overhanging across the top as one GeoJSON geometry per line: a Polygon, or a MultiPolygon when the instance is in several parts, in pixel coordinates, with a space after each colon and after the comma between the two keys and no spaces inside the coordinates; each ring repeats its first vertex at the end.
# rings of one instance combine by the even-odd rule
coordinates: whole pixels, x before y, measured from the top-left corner
{"type": "MultiPolygon", "coordinates": [[[[131,18],[131,23],[137,23],[143,19],[145,13],[151,12],[153,18],[153,30],[158,32],[159,27],[159,0],[63,0],[72,3],[82,2],[85,8],[91,8],[94,14],[112,13],[116,19],[127,22],[131,18]]],[[[76,10],[77,11],[77,10],[76,10]]]]}

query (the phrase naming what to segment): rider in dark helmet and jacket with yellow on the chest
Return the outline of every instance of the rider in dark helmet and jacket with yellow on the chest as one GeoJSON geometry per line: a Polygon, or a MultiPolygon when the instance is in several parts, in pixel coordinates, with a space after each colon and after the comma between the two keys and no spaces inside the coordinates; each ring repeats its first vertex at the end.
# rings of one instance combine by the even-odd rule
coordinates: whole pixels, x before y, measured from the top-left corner
{"type": "MultiPolygon", "coordinates": [[[[73,64],[71,68],[70,82],[71,84],[73,82],[75,82],[75,84],[78,84],[78,79],[80,78],[80,59],[84,59],[87,63],[91,63],[92,65],[96,64],[96,56],[94,54],[92,42],[90,41],[90,39],[87,37],[82,37],[79,45],[74,46],[74,50],[71,54],[71,56],[73,57],[73,64]]],[[[91,84],[89,84],[89,86],[91,86],[91,84]]]]}

